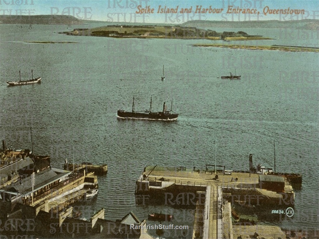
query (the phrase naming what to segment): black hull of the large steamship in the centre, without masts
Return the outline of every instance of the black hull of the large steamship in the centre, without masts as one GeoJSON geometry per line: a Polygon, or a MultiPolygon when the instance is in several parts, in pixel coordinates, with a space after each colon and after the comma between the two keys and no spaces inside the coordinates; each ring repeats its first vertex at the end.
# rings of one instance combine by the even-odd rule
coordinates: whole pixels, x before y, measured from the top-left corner
{"type": "Polygon", "coordinates": [[[135,120],[177,120],[178,114],[168,112],[126,112],[123,110],[117,111],[117,117],[120,119],[135,119],[135,120]]]}

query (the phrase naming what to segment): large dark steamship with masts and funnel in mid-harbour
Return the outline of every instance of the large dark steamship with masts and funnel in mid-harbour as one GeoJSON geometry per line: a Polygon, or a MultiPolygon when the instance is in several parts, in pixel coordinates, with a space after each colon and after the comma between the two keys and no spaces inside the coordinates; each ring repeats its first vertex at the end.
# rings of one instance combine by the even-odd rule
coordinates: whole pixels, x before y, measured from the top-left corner
{"type": "Polygon", "coordinates": [[[163,111],[152,112],[152,96],[151,96],[150,109],[142,111],[142,112],[136,112],[134,111],[134,97],[133,97],[132,112],[118,110],[117,117],[120,119],[136,119],[136,120],[177,120],[178,114],[172,114],[172,105],[173,105],[173,100],[171,104],[171,109],[168,111],[166,110],[166,105],[164,102],[163,111]]]}

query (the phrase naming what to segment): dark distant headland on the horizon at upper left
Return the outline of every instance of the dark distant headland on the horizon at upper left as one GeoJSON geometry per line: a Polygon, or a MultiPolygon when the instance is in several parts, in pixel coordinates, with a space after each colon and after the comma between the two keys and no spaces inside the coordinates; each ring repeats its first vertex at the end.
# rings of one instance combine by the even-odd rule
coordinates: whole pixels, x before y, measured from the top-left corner
{"type": "Polygon", "coordinates": [[[0,15],[0,22],[6,24],[51,24],[77,25],[83,21],[68,15],[0,15]]]}

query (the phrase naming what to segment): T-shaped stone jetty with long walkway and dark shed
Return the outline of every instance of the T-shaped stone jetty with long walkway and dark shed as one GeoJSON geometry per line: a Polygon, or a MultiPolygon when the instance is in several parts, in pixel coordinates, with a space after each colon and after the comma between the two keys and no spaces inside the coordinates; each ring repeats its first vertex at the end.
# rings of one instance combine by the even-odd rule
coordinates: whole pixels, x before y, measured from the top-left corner
{"type": "MultiPolygon", "coordinates": [[[[137,204],[195,208],[193,238],[236,238],[231,205],[289,207],[295,197],[292,186],[280,176],[157,166],[144,168],[136,181],[135,195],[137,204]]],[[[267,238],[266,228],[249,225],[247,235],[256,232],[267,238]]],[[[276,231],[275,238],[283,238],[280,228],[276,231]]]]}

